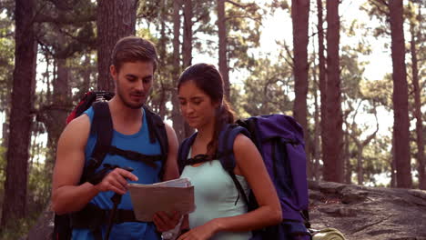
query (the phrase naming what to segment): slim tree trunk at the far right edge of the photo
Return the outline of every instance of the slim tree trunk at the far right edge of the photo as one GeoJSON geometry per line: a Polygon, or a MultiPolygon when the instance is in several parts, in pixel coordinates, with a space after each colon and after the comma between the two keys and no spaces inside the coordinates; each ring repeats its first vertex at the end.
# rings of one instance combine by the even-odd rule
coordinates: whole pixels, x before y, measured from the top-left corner
{"type": "MultiPolygon", "coordinates": [[[[419,35],[418,35],[419,36],[419,35]]],[[[426,190],[426,168],[424,164],[424,139],[421,119],[421,89],[419,84],[419,68],[417,61],[416,33],[411,24],[411,67],[412,85],[414,88],[414,116],[416,118],[416,142],[417,142],[417,171],[419,172],[419,188],[426,190]]]]}

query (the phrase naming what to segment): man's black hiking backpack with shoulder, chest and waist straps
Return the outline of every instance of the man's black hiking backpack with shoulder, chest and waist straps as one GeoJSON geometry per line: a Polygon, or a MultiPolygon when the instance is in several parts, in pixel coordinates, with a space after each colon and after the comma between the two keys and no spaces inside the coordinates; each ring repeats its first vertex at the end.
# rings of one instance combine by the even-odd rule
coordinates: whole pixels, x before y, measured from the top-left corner
{"type": "MultiPolygon", "coordinates": [[[[150,111],[147,106],[143,106],[145,114],[147,115],[147,126],[149,129],[149,141],[151,143],[159,142],[161,148],[161,155],[143,155],[134,151],[127,151],[117,148],[116,146],[111,145],[111,140],[113,136],[113,123],[111,114],[109,112],[109,106],[106,101],[110,100],[114,96],[110,92],[88,92],[81,99],[81,101],[76,105],[75,109],[71,112],[70,115],[66,118],[66,124],[69,124],[73,119],[82,115],[90,106],[93,106],[94,117],[90,125],[90,134],[96,134],[96,145],[94,147],[93,153],[90,156],[83,174],[80,179],[80,184],[83,184],[87,181],[90,181],[91,178],[99,175],[99,172],[104,171],[104,175],[118,166],[104,165],[104,168],[97,172],[96,169],[102,165],[102,162],[106,154],[110,155],[122,155],[127,159],[132,159],[135,161],[143,161],[147,165],[155,166],[153,162],[155,161],[165,161],[167,159],[168,151],[168,142],[167,142],[167,132],[166,127],[159,115],[154,114],[150,111]]],[[[144,123],[145,124],[145,123],[144,123]]],[[[164,165],[163,165],[164,166],[164,165]]],[[[163,170],[160,171],[160,177],[163,174],[163,170]]],[[[114,201],[114,200],[113,200],[114,201]]],[[[93,218],[93,215],[104,215],[104,218],[108,218],[107,210],[102,210],[95,205],[87,204],[84,209],[77,213],[67,214],[67,215],[55,215],[54,219],[54,240],[68,240],[72,236],[72,227],[73,225],[90,225],[91,229],[94,230],[94,235],[96,239],[99,239],[100,235],[100,226],[104,225],[105,219],[95,219],[92,222],[87,222],[90,218],[93,218]],[[96,225],[96,227],[94,227],[96,225]]],[[[114,224],[119,224],[121,222],[136,221],[133,211],[126,210],[121,211],[118,215],[124,216],[121,217],[121,220],[117,220],[114,224]],[[121,221],[121,222],[120,222],[121,221]]],[[[92,220],[92,219],[90,219],[92,220]]],[[[100,236],[101,237],[101,236],[100,236]]]]}

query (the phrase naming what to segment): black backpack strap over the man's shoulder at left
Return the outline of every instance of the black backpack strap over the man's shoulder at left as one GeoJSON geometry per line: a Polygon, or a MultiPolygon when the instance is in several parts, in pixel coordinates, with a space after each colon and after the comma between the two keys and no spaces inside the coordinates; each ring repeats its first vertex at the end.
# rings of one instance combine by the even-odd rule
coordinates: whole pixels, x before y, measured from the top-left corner
{"type": "Polygon", "coordinates": [[[96,134],[96,145],[88,161],[81,182],[85,182],[87,177],[93,175],[99,165],[102,165],[107,153],[107,148],[111,145],[113,135],[113,123],[109,106],[106,102],[96,102],[93,105],[94,116],[90,125],[90,134],[96,134]]]}

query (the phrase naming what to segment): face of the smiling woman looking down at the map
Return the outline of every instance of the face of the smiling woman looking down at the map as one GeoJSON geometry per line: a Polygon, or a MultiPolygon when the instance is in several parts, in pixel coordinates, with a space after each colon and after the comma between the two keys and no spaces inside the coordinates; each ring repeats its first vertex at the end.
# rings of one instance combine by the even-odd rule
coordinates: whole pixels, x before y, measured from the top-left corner
{"type": "Polygon", "coordinates": [[[215,120],[215,110],[218,104],[212,103],[211,97],[189,80],[178,90],[180,112],[188,125],[197,128],[212,127],[215,120]]]}

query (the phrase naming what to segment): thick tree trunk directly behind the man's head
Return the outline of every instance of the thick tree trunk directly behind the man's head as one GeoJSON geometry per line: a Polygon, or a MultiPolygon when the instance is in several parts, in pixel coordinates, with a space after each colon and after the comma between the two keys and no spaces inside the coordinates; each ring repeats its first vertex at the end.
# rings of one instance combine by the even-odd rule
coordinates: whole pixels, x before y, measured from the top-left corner
{"type": "Polygon", "coordinates": [[[114,91],[115,84],[109,75],[111,54],[117,41],[135,35],[138,0],[97,0],[97,88],[114,91]]]}

